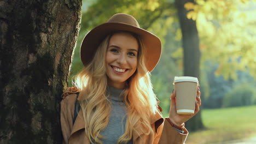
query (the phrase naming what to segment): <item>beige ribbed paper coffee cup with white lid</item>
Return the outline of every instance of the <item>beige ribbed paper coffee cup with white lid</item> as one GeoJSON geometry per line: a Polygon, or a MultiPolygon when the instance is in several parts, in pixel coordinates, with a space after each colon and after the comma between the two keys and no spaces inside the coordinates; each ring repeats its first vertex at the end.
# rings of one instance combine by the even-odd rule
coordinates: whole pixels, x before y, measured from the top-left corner
{"type": "Polygon", "coordinates": [[[176,91],[176,109],[180,115],[195,112],[198,79],[191,76],[175,76],[173,82],[176,91]]]}

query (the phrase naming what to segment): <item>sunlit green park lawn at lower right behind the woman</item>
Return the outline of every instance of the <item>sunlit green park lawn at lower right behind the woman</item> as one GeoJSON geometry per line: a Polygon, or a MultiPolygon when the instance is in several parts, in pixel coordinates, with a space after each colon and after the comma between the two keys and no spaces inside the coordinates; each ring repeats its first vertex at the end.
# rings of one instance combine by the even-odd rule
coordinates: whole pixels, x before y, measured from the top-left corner
{"type": "Polygon", "coordinates": [[[225,143],[256,136],[256,105],[202,110],[206,130],[188,135],[186,144],[225,143]]]}

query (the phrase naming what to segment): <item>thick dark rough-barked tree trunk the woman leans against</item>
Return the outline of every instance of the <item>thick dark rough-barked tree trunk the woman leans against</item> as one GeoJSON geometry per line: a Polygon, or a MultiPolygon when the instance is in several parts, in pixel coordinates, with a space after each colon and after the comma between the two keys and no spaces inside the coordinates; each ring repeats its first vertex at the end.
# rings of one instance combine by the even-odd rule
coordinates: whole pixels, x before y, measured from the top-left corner
{"type": "Polygon", "coordinates": [[[0,1],[0,143],[61,143],[81,0],[0,1]]]}

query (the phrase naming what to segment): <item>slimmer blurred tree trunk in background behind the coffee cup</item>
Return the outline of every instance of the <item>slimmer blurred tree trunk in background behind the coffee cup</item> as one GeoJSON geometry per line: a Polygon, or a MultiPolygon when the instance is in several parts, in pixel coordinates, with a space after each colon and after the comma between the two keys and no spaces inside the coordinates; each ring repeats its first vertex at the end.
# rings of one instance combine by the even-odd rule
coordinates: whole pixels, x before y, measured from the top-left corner
{"type": "MultiPolygon", "coordinates": [[[[198,77],[200,81],[201,53],[199,50],[199,36],[196,28],[196,21],[187,18],[188,11],[184,8],[184,4],[187,2],[195,3],[194,1],[188,0],[175,1],[182,30],[184,76],[198,77]]],[[[190,131],[203,128],[201,111],[186,123],[186,128],[190,131]]]]}

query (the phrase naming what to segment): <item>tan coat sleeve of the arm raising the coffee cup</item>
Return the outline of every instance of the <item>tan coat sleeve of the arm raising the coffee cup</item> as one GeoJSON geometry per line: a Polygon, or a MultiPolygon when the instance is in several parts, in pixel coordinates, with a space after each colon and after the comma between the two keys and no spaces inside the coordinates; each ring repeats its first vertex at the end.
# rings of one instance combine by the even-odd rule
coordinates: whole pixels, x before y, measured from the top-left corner
{"type": "Polygon", "coordinates": [[[184,128],[185,134],[179,133],[172,125],[167,121],[161,124],[158,128],[154,143],[159,144],[183,144],[188,136],[188,130],[184,128]]]}

